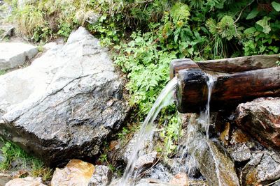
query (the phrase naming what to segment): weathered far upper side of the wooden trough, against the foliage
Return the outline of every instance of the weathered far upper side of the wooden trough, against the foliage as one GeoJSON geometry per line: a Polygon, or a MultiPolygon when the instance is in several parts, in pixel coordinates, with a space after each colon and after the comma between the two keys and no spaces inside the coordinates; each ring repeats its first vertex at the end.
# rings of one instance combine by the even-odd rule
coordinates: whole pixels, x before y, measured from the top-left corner
{"type": "Polygon", "coordinates": [[[244,56],[230,59],[217,59],[209,61],[197,61],[196,63],[190,59],[174,60],[170,64],[170,78],[179,70],[186,68],[202,68],[215,72],[244,72],[248,70],[257,70],[263,68],[272,68],[276,66],[276,61],[279,60],[279,55],[258,55],[244,56]],[[196,65],[195,65],[196,64],[196,65]]]}

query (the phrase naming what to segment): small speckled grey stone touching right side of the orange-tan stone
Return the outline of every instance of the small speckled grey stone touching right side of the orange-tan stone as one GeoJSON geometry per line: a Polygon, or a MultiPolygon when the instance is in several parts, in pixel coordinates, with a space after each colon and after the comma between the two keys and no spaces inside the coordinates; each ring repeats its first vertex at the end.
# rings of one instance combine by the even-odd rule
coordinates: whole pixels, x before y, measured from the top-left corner
{"type": "Polygon", "coordinates": [[[112,172],[109,166],[97,165],[95,166],[95,171],[90,178],[90,183],[88,186],[106,186],[112,180],[112,172]]]}

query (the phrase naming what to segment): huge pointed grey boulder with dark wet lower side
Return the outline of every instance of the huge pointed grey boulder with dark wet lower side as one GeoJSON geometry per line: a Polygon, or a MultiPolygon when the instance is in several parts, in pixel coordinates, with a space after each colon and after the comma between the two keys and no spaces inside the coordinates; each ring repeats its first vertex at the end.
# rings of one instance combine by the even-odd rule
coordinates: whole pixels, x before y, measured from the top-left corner
{"type": "Polygon", "coordinates": [[[49,164],[93,157],[129,106],[107,49],[84,28],[0,77],[0,134],[49,164]]]}

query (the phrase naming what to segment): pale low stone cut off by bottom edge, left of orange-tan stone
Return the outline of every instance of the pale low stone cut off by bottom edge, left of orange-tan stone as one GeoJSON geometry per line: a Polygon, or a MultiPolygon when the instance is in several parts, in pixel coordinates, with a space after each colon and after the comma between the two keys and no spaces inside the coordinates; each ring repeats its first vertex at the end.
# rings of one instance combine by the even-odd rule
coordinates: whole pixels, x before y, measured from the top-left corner
{"type": "Polygon", "coordinates": [[[6,183],[5,186],[46,186],[42,183],[42,178],[15,178],[6,183]]]}

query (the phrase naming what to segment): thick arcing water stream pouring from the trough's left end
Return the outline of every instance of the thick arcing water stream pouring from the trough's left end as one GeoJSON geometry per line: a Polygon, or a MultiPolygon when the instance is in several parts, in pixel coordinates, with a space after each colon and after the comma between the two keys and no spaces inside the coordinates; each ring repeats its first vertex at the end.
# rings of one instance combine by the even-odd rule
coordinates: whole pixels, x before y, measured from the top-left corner
{"type": "Polygon", "coordinates": [[[130,176],[132,176],[135,162],[138,159],[139,150],[141,150],[141,148],[144,147],[145,140],[149,139],[153,135],[153,121],[155,121],[155,118],[158,116],[162,107],[166,107],[167,105],[172,104],[174,102],[173,95],[177,86],[178,78],[174,77],[162,90],[162,92],[158,96],[158,99],[155,100],[152,109],[149,111],[148,116],[146,117],[143,125],[141,126],[141,130],[137,137],[136,143],[134,144],[134,150],[130,155],[130,159],[125,169],[125,173],[123,174],[123,178],[119,185],[131,185],[127,183],[127,180],[130,178],[130,176]]]}

